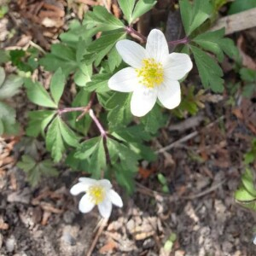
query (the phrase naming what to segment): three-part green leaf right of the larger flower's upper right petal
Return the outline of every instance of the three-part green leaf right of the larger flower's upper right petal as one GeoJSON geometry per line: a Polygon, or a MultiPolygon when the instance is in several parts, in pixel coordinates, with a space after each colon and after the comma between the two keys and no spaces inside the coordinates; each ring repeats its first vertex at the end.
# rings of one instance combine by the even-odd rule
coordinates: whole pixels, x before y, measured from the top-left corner
{"type": "Polygon", "coordinates": [[[183,52],[191,50],[195,57],[195,64],[205,88],[215,92],[224,90],[224,79],[218,62],[207,52],[216,55],[218,61],[224,60],[224,54],[235,60],[238,59],[238,50],[234,42],[224,38],[224,28],[213,32],[204,32],[206,21],[211,18],[214,6],[209,0],[180,1],[180,12],[189,44],[183,47],[183,52]]]}

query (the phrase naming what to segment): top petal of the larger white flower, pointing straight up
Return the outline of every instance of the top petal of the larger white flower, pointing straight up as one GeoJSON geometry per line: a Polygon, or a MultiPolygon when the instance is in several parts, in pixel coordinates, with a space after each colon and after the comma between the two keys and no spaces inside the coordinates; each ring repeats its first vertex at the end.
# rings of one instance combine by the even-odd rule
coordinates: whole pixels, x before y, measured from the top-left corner
{"type": "Polygon", "coordinates": [[[151,58],[162,62],[169,55],[168,44],[163,32],[153,29],[148,35],[146,49],[151,58]]]}

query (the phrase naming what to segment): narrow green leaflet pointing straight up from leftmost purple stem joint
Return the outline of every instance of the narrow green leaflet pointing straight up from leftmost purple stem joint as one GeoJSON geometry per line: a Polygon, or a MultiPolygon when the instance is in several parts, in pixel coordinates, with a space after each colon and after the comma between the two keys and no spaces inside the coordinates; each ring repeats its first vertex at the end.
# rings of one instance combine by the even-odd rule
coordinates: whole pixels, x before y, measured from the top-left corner
{"type": "Polygon", "coordinates": [[[53,77],[51,78],[51,81],[49,84],[49,90],[56,105],[59,104],[64,87],[65,87],[65,75],[62,73],[61,67],[59,67],[57,71],[54,73],[53,77]]]}

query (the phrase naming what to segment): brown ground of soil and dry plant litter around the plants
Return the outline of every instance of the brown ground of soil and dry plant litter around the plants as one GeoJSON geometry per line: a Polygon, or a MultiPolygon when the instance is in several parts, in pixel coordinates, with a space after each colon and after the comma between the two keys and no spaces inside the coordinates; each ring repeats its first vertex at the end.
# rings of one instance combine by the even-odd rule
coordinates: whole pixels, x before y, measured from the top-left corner
{"type": "MultiPolygon", "coordinates": [[[[80,2],[86,9],[94,1],[80,2]]],[[[19,3],[21,7],[25,4],[32,8],[33,1],[19,3]]],[[[64,1],[38,3],[63,6],[64,1]]],[[[4,48],[23,47],[26,40],[34,40],[47,50],[49,42],[57,38],[60,27],[67,26],[65,22],[70,18],[63,20],[60,12],[56,14],[59,18],[55,19],[58,20],[55,26],[46,28],[39,26],[40,20],[22,16],[15,8],[10,5],[9,14],[0,20],[4,48]],[[22,19],[29,21],[27,26],[32,26],[34,19],[38,22],[34,26],[44,36],[45,32],[53,36],[50,40],[50,37],[42,38],[34,27],[26,33],[26,28],[19,25],[22,19]],[[11,29],[18,32],[8,39],[11,29]]],[[[75,13],[79,15],[80,5],[76,8],[75,13]]],[[[161,8],[165,7],[154,10],[155,23],[159,16],[163,18],[162,13],[166,14],[161,8]]],[[[234,38],[242,38],[246,43],[253,32],[255,29],[239,32],[234,38]]],[[[253,40],[256,42],[256,38],[253,40]]],[[[227,77],[229,68],[226,61],[227,77]]],[[[170,115],[168,125],[152,142],[158,160],[151,166],[142,162],[134,195],[127,196],[114,186],[122,195],[124,207],[114,208],[107,224],[97,209],[88,214],[79,212],[79,197],[70,195],[69,189],[80,173],[60,164],[59,177],[44,177],[32,188],[26,175],[15,166],[24,150],[19,146],[20,137],[0,138],[0,255],[255,255],[256,214],[242,208],[234,199],[244,172],[243,154],[255,137],[255,97],[236,95],[233,105],[229,104],[227,92],[218,96],[208,93],[206,98],[204,108],[195,116],[178,120],[170,115]],[[162,192],[158,173],[166,177],[169,193],[162,192]]],[[[22,122],[30,105],[22,93],[15,101],[22,122]]]]}

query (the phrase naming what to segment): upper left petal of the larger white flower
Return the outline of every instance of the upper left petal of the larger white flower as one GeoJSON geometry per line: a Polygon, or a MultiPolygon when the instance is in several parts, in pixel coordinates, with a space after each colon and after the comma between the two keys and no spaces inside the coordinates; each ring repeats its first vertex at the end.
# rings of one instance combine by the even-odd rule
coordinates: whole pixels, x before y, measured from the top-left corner
{"type": "Polygon", "coordinates": [[[143,59],[147,58],[146,49],[131,40],[120,40],[116,44],[116,49],[122,59],[131,67],[142,67],[143,59]]]}

